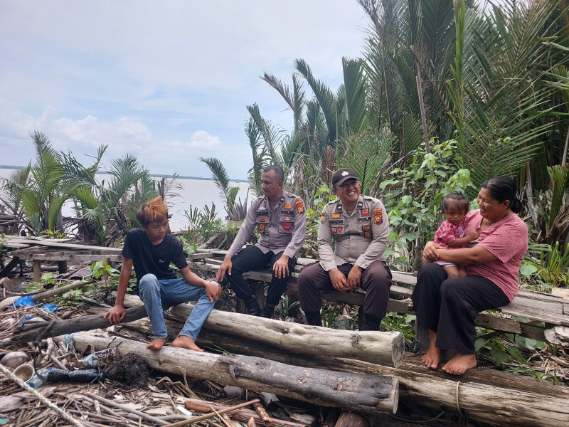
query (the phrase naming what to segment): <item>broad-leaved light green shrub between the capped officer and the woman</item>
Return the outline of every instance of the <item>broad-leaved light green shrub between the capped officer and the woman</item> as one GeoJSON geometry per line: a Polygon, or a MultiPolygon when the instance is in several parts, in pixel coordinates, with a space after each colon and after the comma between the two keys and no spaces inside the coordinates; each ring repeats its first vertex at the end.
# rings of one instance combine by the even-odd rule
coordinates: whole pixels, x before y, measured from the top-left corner
{"type": "MultiPolygon", "coordinates": [[[[421,147],[405,169],[394,168],[383,181],[383,203],[390,223],[389,241],[393,245],[385,256],[394,256],[398,268],[410,268],[410,258],[425,241],[432,240],[440,226],[442,198],[453,191],[474,192],[467,169],[454,163],[457,142],[452,139],[435,144],[431,152],[421,147]]],[[[418,260],[413,270],[418,269],[418,260]]]]}

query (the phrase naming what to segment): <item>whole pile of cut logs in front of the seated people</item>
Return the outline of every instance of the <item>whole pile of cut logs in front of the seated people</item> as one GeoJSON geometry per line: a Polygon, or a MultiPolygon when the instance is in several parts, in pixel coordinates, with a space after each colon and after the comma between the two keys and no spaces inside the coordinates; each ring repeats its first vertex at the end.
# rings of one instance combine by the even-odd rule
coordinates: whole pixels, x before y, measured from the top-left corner
{"type": "MultiPolygon", "coordinates": [[[[139,298],[127,295],[125,305],[124,327],[151,333],[139,298]]],[[[176,337],[192,307],[182,304],[166,312],[169,338],[176,337]]],[[[54,322],[43,337],[108,326],[101,316],[107,309],[90,310],[96,314],[54,322]]],[[[30,340],[44,329],[21,330],[11,342],[30,340]]],[[[395,412],[401,397],[494,425],[569,425],[569,392],[563,387],[489,369],[472,369],[462,377],[427,370],[415,356],[403,360],[400,332],[330,330],[213,310],[197,344],[226,354],[170,346],[154,352],[142,342],[92,332],[75,333],[74,342],[78,351],[117,347],[118,354],[136,352],[159,371],[179,374],[181,368],[195,379],[358,413],[395,412]]]]}

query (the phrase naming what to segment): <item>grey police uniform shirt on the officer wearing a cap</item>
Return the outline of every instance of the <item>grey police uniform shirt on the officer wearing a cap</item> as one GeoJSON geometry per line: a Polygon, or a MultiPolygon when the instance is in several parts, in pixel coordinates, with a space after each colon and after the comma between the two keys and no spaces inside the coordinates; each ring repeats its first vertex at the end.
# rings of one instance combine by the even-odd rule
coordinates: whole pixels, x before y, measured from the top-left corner
{"type": "Polygon", "coordinates": [[[351,263],[367,268],[373,261],[385,260],[389,221],[381,200],[360,195],[349,214],[341,200],[324,207],[318,228],[318,255],[324,270],[351,263]],[[332,249],[332,239],[336,242],[332,249]]]}

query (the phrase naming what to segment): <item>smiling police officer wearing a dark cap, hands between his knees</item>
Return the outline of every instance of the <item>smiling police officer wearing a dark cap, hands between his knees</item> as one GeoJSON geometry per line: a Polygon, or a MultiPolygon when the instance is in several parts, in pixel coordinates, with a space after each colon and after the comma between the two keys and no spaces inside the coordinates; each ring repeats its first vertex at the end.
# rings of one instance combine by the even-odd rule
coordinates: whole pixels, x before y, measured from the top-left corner
{"type": "Polygon", "coordinates": [[[391,272],[383,256],[389,237],[387,213],[381,200],[361,195],[358,176],[352,169],[336,172],[332,187],[339,199],[327,204],[320,216],[320,261],[299,275],[300,307],[309,325],[321,326],[321,291],[361,288],[366,291],[365,330],[378,330],[387,312],[391,286],[391,272]]]}

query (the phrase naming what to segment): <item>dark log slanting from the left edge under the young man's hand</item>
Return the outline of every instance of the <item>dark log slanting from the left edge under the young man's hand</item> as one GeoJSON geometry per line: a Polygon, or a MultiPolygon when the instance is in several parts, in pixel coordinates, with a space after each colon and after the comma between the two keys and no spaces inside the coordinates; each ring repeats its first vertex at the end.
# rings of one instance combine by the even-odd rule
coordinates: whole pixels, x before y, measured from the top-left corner
{"type": "MultiPolygon", "coordinates": [[[[108,310],[105,309],[105,312],[108,310]]],[[[138,320],[147,315],[144,305],[130,308],[126,311],[123,322],[138,320]]],[[[34,322],[30,325],[23,324],[14,331],[10,338],[3,339],[0,347],[21,342],[35,341],[41,334],[41,338],[56,337],[58,335],[72,334],[73,332],[95,330],[97,328],[110,327],[109,320],[103,319],[102,314],[74,317],[68,320],[57,320],[55,322],[34,322]]]]}

